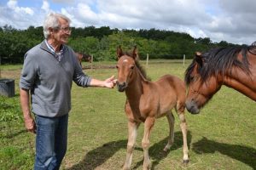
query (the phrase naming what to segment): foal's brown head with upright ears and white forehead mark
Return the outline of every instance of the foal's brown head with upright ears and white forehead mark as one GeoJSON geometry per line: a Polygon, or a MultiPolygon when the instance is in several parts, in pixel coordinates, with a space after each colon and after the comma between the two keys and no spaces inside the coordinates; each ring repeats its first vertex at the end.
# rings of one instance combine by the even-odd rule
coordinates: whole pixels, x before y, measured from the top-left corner
{"type": "Polygon", "coordinates": [[[137,47],[133,49],[131,54],[123,53],[119,47],[117,48],[117,57],[119,59],[116,65],[118,70],[117,87],[119,92],[124,92],[134,76],[134,71],[137,69],[137,47]]]}

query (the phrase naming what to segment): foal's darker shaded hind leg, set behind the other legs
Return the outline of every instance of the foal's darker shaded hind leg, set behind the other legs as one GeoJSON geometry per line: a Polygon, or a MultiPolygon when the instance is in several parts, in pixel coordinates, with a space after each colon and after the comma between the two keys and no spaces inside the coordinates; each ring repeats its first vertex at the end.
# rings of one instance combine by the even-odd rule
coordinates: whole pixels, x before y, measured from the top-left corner
{"type": "Polygon", "coordinates": [[[167,151],[171,148],[173,142],[174,142],[174,116],[172,115],[172,111],[168,111],[167,112],[167,120],[168,120],[168,123],[169,123],[169,138],[168,138],[168,143],[166,144],[166,147],[164,149],[164,151],[167,151]]]}

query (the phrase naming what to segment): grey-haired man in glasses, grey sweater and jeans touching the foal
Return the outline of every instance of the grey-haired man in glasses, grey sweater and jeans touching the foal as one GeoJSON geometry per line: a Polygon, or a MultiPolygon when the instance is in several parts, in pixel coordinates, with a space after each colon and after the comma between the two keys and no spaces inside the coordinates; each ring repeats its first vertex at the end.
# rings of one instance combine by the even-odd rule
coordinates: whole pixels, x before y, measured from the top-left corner
{"type": "Polygon", "coordinates": [[[76,54],[66,45],[71,34],[69,25],[65,15],[49,14],[44,20],[45,40],[25,54],[20,76],[20,105],[26,129],[37,133],[34,169],[61,166],[67,150],[72,82],[82,87],[114,86],[113,77],[101,81],[84,75],[76,54]]]}

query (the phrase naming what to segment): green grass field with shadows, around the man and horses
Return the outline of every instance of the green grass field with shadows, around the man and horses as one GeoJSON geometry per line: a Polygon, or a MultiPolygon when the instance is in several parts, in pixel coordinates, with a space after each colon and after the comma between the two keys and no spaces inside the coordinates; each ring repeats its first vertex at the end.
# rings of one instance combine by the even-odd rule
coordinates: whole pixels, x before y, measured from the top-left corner
{"type": "MultiPolygon", "coordinates": [[[[115,62],[104,65],[115,65],[115,62]]],[[[177,60],[154,60],[149,61],[146,71],[153,81],[164,74],[183,79],[188,65],[189,62],[183,66],[182,61],[177,60]]],[[[3,170],[27,170],[33,166],[35,136],[26,133],[21,118],[20,68],[20,65],[5,65],[1,71],[2,77],[15,79],[16,93],[14,98],[0,97],[0,169],[3,170]]],[[[115,69],[84,71],[99,79],[117,74],[115,69]]],[[[127,143],[125,94],[116,88],[79,88],[75,84],[72,94],[68,149],[61,169],[121,169],[127,143]]],[[[176,114],[175,118],[175,143],[167,153],[162,151],[167,142],[167,120],[163,117],[154,125],[149,148],[153,169],[256,169],[256,103],[252,99],[223,87],[201,110],[201,114],[190,115],[186,111],[188,165],[183,165],[182,133],[176,114]]],[[[142,169],[143,166],[142,138],[143,124],[139,128],[132,169],[142,169]]]]}

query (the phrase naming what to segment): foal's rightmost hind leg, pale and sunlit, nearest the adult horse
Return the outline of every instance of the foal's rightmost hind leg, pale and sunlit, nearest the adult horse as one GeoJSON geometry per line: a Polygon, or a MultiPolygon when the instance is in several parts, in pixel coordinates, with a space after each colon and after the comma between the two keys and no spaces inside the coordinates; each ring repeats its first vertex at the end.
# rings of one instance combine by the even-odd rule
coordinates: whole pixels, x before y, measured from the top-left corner
{"type": "Polygon", "coordinates": [[[185,106],[177,108],[177,114],[180,120],[180,127],[183,133],[183,163],[189,163],[189,149],[187,140],[187,122],[185,119],[185,106]]]}

